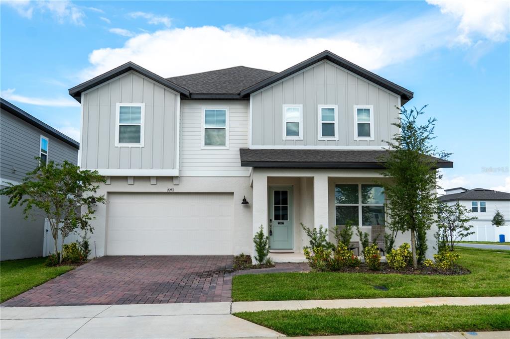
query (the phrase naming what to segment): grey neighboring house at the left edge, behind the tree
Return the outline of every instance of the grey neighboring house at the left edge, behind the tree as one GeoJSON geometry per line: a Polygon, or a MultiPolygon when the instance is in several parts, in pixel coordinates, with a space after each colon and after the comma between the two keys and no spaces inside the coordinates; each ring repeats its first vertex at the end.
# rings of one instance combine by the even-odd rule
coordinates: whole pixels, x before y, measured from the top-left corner
{"type": "MultiPolygon", "coordinates": [[[[0,182],[17,184],[43,161],[77,163],[79,144],[10,102],[0,99],[0,182]]],[[[44,217],[24,219],[21,207],[9,208],[1,196],[0,260],[43,255],[44,217]]],[[[51,237],[50,237],[51,238],[51,237]]]]}

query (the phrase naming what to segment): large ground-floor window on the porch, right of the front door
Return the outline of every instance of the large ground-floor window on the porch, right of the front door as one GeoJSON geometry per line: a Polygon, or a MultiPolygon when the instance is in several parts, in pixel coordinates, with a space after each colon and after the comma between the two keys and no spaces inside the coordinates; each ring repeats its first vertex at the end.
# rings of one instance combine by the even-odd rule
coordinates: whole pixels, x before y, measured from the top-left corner
{"type": "Polygon", "coordinates": [[[384,190],[377,185],[335,185],[336,224],[384,225],[384,200],[384,190]]]}

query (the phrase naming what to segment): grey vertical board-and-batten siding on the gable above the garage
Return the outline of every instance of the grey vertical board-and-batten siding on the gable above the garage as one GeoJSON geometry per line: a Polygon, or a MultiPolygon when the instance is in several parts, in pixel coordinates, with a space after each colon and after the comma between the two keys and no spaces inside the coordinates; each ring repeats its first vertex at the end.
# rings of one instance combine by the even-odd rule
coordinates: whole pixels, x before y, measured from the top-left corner
{"type": "Polygon", "coordinates": [[[177,167],[179,94],[128,72],[83,94],[81,166],[162,170],[177,167]],[[115,147],[116,104],[144,103],[144,147],[115,147]]]}

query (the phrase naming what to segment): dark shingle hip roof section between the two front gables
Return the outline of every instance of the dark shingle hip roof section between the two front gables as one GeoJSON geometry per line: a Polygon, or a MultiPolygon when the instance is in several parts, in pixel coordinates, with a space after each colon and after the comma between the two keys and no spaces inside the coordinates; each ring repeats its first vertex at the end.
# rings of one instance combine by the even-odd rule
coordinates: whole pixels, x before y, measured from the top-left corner
{"type": "Polygon", "coordinates": [[[167,80],[189,90],[192,94],[235,94],[273,76],[276,72],[236,66],[215,71],[173,76],[167,80]]]}

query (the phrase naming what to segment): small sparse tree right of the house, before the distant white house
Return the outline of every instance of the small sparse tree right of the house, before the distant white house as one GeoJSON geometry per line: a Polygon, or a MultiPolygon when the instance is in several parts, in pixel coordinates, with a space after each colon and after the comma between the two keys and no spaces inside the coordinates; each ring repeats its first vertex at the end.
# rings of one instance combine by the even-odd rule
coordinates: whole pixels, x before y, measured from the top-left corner
{"type": "Polygon", "coordinates": [[[439,241],[444,241],[450,251],[454,249],[455,242],[474,234],[471,231],[472,225],[468,223],[478,218],[469,216],[469,213],[471,211],[459,203],[438,205],[438,228],[441,237],[439,241]]]}

